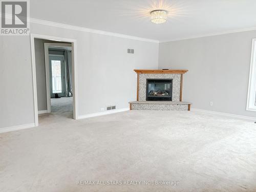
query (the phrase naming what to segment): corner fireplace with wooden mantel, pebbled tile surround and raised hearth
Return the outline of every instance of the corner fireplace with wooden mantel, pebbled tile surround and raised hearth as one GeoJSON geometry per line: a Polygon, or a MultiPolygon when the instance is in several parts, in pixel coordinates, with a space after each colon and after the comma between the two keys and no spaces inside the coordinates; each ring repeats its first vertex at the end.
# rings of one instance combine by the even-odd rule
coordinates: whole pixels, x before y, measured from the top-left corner
{"type": "Polygon", "coordinates": [[[183,74],[188,70],[134,70],[137,73],[137,101],[130,110],[189,111],[182,102],[183,74]]]}

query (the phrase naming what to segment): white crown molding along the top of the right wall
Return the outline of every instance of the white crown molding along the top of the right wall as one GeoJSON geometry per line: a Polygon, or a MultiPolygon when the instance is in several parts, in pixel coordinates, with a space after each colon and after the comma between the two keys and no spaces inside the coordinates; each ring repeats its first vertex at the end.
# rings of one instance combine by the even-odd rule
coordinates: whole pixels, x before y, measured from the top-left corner
{"type": "Polygon", "coordinates": [[[201,35],[194,35],[194,36],[189,36],[189,37],[184,37],[184,38],[175,38],[175,39],[164,40],[164,41],[159,41],[159,42],[160,43],[172,42],[172,41],[178,41],[178,40],[195,39],[195,38],[200,38],[200,37],[210,37],[210,36],[224,35],[224,34],[229,34],[229,33],[239,33],[239,32],[245,32],[245,31],[253,31],[253,30],[256,30],[256,27],[237,29],[237,30],[229,30],[229,31],[223,31],[223,32],[219,32],[219,33],[207,33],[207,34],[201,34],[201,35]]]}

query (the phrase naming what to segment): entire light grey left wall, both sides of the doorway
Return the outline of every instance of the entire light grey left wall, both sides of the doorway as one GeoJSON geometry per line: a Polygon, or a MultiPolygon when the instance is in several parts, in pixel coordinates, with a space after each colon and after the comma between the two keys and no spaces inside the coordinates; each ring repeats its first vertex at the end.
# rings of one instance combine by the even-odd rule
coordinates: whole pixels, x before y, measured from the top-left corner
{"type": "MultiPolygon", "coordinates": [[[[158,44],[31,24],[31,33],[77,39],[78,116],[136,100],[134,69],[156,69],[158,44]],[[135,54],[127,54],[127,48],[135,54]]],[[[30,38],[0,36],[0,127],[34,123],[30,38]]]]}

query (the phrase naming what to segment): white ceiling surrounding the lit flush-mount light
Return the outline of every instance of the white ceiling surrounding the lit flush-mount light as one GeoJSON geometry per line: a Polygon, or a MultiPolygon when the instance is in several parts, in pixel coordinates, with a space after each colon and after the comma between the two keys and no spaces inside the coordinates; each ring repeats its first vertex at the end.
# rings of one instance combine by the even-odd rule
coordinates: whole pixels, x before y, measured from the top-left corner
{"type": "Polygon", "coordinates": [[[160,41],[256,27],[256,0],[31,0],[30,12],[33,18],[160,41]],[[168,11],[166,23],[151,23],[155,9],[168,11]]]}

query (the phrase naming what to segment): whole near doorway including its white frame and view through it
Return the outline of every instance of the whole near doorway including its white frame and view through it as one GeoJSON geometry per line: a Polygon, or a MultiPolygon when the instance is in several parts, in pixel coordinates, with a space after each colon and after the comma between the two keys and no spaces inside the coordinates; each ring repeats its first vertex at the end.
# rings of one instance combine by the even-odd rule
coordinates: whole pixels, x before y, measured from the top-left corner
{"type": "Polygon", "coordinates": [[[77,119],[76,40],[31,34],[35,125],[38,114],[77,119]]]}

